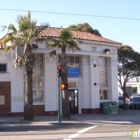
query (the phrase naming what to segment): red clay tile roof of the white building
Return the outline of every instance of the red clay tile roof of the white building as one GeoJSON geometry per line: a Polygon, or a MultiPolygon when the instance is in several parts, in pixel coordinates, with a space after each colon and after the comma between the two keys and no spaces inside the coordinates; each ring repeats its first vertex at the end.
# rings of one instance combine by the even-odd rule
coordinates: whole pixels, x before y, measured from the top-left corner
{"type": "MultiPolygon", "coordinates": [[[[41,32],[42,36],[50,36],[50,37],[58,37],[60,36],[60,31],[63,28],[46,28],[41,32]]],[[[89,41],[97,41],[97,42],[105,42],[105,43],[112,43],[112,44],[122,44],[120,42],[116,42],[104,37],[100,37],[91,33],[87,32],[80,32],[80,31],[72,31],[73,39],[80,39],[80,40],[89,40],[89,41]]]]}

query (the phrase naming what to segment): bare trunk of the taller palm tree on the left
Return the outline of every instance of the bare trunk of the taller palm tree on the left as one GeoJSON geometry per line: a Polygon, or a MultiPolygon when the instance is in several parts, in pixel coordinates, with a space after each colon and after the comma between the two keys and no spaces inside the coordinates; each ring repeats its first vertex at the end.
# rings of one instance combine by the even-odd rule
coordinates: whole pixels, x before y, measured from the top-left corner
{"type": "Polygon", "coordinates": [[[34,57],[30,44],[27,45],[25,50],[25,93],[24,93],[24,119],[33,120],[33,91],[32,91],[32,73],[34,66],[34,57]]]}

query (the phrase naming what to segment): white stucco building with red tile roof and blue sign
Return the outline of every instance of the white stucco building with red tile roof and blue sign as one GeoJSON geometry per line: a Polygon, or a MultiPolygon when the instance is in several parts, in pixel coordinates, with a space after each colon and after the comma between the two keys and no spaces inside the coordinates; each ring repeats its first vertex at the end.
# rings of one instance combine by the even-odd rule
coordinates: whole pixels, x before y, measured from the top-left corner
{"type": "MultiPolygon", "coordinates": [[[[60,30],[47,28],[42,36],[59,38],[60,30]]],[[[66,50],[70,112],[100,113],[102,102],[118,102],[117,47],[121,43],[77,31],[73,31],[73,39],[82,40],[82,43],[79,44],[81,51],[66,50]]],[[[33,73],[35,115],[57,115],[58,112],[57,65],[61,50],[57,50],[56,56],[49,57],[53,49],[46,48],[46,43],[38,43],[38,47],[33,48],[36,56],[33,73]]],[[[13,69],[13,61],[20,51],[2,54],[0,50],[0,116],[23,115],[24,70],[13,69]]]]}

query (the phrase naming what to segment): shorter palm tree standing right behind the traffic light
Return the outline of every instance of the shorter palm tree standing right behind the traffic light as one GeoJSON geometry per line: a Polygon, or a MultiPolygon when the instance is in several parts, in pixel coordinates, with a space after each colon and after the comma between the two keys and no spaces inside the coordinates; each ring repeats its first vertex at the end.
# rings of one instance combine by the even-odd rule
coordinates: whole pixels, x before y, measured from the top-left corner
{"type": "MultiPolygon", "coordinates": [[[[61,49],[61,55],[59,60],[59,63],[62,66],[61,82],[66,84],[68,84],[66,48],[71,49],[72,51],[81,50],[78,46],[78,42],[73,40],[72,36],[72,32],[70,32],[68,29],[62,29],[60,32],[59,40],[52,39],[52,42],[49,43],[47,46],[61,49]]],[[[50,52],[50,56],[55,54],[56,50],[50,52]]],[[[62,90],[62,113],[63,119],[70,119],[68,89],[62,90]]]]}

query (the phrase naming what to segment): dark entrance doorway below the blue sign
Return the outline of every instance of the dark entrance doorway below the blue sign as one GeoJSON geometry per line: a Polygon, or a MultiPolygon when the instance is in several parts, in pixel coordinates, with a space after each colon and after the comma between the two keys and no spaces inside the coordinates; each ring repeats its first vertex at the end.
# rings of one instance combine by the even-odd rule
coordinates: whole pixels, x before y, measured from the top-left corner
{"type": "Polygon", "coordinates": [[[71,114],[78,114],[78,90],[69,89],[69,106],[71,114]]]}

